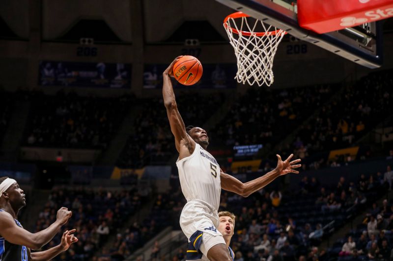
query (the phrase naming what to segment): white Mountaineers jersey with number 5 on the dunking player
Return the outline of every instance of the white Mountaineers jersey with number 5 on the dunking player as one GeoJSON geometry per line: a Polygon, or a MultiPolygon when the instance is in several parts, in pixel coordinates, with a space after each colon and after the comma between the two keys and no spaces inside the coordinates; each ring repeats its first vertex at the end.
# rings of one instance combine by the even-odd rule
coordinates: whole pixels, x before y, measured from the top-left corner
{"type": "Polygon", "coordinates": [[[187,202],[198,199],[216,210],[220,206],[220,166],[198,143],[190,156],[177,160],[181,190],[187,202]]]}

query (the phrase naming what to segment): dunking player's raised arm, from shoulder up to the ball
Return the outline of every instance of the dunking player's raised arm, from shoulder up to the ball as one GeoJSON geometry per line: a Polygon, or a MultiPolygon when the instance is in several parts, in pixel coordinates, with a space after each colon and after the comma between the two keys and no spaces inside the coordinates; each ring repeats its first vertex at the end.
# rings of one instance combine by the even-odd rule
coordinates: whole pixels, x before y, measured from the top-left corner
{"type": "Polygon", "coordinates": [[[173,92],[172,82],[170,81],[170,76],[172,76],[173,65],[181,56],[178,56],[173,62],[168,66],[167,70],[163,72],[163,98],[164,105],[167,109],[167,115],[170,124],[170,130],[175,137],[175,145],[177,151],[185,155],[180,155],[180,158],[187,157],[193,153],[195,149],[195,142],[189,138],[186,127],[184,125],[183,119],[177,110],[177,104],[175,99],[175,94],[173,92]],[[181,150],[181,147],[185,146],[187,149],[181,150]],[[181,153],[182,152],[182,153],[181,153]],[[183,157],[182,157],[183,156],[183,157]]]}

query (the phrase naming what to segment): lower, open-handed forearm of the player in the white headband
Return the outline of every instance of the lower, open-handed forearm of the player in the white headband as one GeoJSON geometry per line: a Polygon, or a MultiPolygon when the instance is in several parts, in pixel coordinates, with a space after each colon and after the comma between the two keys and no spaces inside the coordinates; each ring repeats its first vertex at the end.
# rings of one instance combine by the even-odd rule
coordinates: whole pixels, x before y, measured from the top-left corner
{"type": "Polygon", "coordinates": [[[61,252],[66,251],[71,244],[78,242],[78,238],[74,236],[74,233],[76,230],[67,230],[66,232],[63,233],[63,236],[61,237],[61,242],[60,244],[45,250],[45,251],[40,251],[40,252],[33,252],[30,253],[30,261],[49,261],[55,258],[58,254],[61,252]]]}

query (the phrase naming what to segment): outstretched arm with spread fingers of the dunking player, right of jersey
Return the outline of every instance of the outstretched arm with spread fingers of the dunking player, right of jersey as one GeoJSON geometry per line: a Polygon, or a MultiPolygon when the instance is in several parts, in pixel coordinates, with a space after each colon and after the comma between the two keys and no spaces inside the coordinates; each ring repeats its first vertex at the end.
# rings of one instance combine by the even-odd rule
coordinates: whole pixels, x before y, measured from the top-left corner
{"type": "Polygon", "coordinates": [[[264,188],[266,185],[268,185],[281,175],[285,175],[288,173],[299,173],[299,171],[295,170],[294,168],[302,166],[301,164],[297,164],[301,160],[297,159],[294,161],[290,161],[292,157],[293,154],[291,154],[285,161],[282,161],[281,156],[277,154],[278,161],[277,167],[275,169],[269,171],[268,173],[259,178],[256,178],[246,183],[241,182],[240,180],[224,173],[223,170],[221,170],[221,188],[223,190],[239,194],[243,197],[248,197],[253,192],[264,188]]]}

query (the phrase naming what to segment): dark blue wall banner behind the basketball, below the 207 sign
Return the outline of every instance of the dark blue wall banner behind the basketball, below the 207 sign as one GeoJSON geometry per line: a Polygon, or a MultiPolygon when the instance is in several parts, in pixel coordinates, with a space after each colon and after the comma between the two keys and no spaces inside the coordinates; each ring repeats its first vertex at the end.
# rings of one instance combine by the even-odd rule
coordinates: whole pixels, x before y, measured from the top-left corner
{"type": "MultiPolygon", "coordinates": [[[[202,66],[203,74],[196,84],[186,86],[173,80],[173,88],[236,88],[234,79],[237,71],[236,64],[203,64],[202,66]]],[[[146,64],[143,72],[143,88],[161,89],[163,87],[162,73],[167,68],[167,64],[146,64]]]]}

